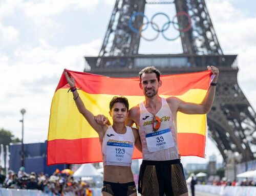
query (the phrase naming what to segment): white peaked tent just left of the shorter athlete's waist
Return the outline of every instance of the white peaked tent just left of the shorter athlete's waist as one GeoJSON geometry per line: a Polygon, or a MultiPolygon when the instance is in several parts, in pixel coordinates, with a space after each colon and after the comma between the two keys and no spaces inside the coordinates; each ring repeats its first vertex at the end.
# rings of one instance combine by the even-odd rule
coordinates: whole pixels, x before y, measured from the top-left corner
{"type": "Polygon", "coordinates": [[[82,164],[73,174],[74,178],[99,176],[102,176],[102,174],[91,163],[82,164]]]}

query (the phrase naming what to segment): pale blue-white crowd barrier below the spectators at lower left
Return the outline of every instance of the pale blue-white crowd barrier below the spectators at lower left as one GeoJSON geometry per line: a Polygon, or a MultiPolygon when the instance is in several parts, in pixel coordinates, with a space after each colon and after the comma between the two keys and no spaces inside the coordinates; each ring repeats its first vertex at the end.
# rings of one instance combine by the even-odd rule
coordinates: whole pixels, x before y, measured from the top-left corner
{"type": "MultiPolygon", "coordinates": [[[[90,196],[100,196],[101,188],[90,188],[92,190],[92,195],[90,196]]],[[[12,189],[12,188],[0,188],[0,196],[54,196],[53,193],[45,193],[41,190],[27,190],[27,189],[12,189]]],[[[75,196],[75,194],[67,193],[64,196],[75,196]]]]}

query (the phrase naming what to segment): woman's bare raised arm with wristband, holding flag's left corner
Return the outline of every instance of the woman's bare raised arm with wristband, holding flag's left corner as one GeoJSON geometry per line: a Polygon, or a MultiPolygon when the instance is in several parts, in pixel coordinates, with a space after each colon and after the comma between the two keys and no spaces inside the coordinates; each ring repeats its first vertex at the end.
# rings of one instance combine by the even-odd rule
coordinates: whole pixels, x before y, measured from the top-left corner
{"type": "Polygon", "coordinates": [[[78,111],[86,118],[86,120],[89,122],[89,124],[93,127],[94,130],[99,134],[100,138],[104,137],[105,130],[108,128],[108,125],[100,125],[98,124],[95,119],[94,115],[87,110],[86,106],[84,106],[81,98],[79,97],[79,94],[75,87],[75,79],[72,76],[69,76],[69,74],[64,71],[64,74],[66,76],[66,79],[70,85],[70,90],[73,93],[74,101],[76,103],[76,106],[78,108],[78,111]]]}

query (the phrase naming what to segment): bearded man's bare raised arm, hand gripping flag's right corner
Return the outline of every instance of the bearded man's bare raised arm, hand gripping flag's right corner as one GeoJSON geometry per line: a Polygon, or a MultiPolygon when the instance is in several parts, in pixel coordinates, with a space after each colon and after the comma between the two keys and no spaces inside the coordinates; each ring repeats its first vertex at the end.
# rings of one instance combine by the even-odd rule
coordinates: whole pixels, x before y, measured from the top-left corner
{"type": "Polygon", "coordinates": [[[214,79],[211,82],[211,85],[200,104],[197,103],[188,103],[184,102],[178,98],[168,98],[167,101],[170,105],[175,105],[176,111],[182,112],[185,114],[206,114],[210,111],[212,103],[214,102],[215,89],[219,76],[219,69],[211,66],[208,66],[208,70],[215,75],[214,79]]]}

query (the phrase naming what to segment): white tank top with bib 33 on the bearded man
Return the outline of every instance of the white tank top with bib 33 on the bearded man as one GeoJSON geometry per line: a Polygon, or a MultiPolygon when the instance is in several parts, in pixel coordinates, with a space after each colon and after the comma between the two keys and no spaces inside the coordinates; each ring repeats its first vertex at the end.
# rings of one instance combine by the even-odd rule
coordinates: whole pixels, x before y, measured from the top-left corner
{"type": "MultiPolygon", "coordinates": [[[[146,110],[144,103],[140,103],[139,135],[142,144],[143,160],[168,161],[179,159],[177,146],[177,130],[172,112],[164,98],[162,107],[155,115],[161,119],[160,128],[153,131],[154,115],[146,110]]],[[[156,123],[154,121],[154,123],[156,123]]]]}

